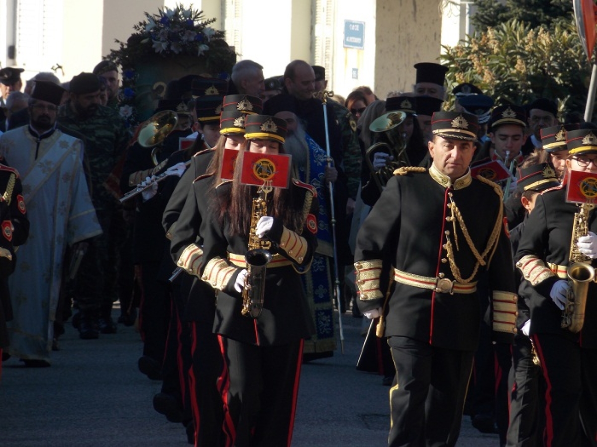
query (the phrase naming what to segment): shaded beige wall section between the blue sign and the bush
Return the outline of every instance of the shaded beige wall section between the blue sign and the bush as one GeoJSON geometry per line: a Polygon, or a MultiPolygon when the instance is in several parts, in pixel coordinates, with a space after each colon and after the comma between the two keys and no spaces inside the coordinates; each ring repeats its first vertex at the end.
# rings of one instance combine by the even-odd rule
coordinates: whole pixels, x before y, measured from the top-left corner
{"type": "Polygon", "coordinates": [[[377,0],[375,92],[411,91],[413,65],[438,62],[441,0],[377,0]]]}

